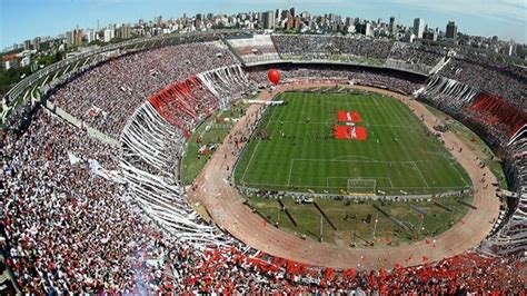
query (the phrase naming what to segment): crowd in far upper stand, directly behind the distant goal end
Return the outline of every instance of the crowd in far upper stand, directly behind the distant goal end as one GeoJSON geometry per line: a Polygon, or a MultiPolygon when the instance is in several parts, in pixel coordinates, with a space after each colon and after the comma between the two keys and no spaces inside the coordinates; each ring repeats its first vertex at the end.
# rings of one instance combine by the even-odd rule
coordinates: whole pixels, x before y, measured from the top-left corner
{"type": "Polygon", "coordinates": [[[271,39],[282,58],[304,60],[360,58],[382,63],[392,46],[388,39],[368,37],[274,34],[271,39]]]}

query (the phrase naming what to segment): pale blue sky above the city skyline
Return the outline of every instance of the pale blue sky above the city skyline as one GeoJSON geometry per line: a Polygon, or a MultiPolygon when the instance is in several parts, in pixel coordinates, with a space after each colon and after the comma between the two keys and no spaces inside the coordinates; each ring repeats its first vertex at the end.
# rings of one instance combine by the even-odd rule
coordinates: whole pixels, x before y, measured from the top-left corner
{"type": "Polygon", "coordinates": [[[0,49],[38,36],[57,36],[79,26],[133,23],[138,19],[178,18],[183,13],[236,13],[295,7],[298,12],[337,13],[411,26],[422,18],[445,31],[454,20],[458,31],[498,36],[527,43],[527,0],[0,0],[0,49]]]}

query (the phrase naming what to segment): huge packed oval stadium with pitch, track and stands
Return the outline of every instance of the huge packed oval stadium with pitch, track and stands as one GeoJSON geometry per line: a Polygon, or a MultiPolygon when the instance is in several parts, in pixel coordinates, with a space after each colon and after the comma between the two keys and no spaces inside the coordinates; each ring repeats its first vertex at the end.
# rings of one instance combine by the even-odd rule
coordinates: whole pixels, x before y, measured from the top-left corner
{"type": "Polygon", "coordinates": [[[24,294],[521,294],[526,81],[232,29],[61,60],[3,98],[6,267],[24,294]]]}

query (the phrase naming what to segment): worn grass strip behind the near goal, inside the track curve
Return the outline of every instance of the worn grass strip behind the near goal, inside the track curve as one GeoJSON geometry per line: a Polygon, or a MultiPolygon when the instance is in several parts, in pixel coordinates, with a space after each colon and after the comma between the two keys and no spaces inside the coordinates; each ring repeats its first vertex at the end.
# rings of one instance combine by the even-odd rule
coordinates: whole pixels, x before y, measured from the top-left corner
{"type": "Polygon", "coordinates": [[[454,224],[458,223],[469,209],[459,203],[463,200],[470,204],[471,197],[454,198],[443,197],[438,199],[440,205],[450,209],[446,210],[430,201],[407,201],[407,203],[380,203],[380,201],[346,201],[332,199],[315,199],[329,217],[337,230],[324,219],[320,223],[320,213],[312,204],[296,204],[292,198],[281,199],[297,226],[292,224],[281,206],[276,199],[261,197],[250,197],[247,205],[269,220],[272,225],[278,225],[299,237],[302,235],[307,239],[319,240],[320,228],[322,228],[324,240],[338,246],[401,246],[411,244],[414,240],[435,237],[454,224]],[[388,213],[391,218],[401,221],[408,227],[402,229],[374,205],[388,213]],[[426,213],[422,219],[419,211],[426,213]],[[367,217],[371,219],[367,223],[367,217]],[[377,225],[376,221],[377,220],[377,225]],[[419,229],[420,227],[420,229],[419,229]]]}

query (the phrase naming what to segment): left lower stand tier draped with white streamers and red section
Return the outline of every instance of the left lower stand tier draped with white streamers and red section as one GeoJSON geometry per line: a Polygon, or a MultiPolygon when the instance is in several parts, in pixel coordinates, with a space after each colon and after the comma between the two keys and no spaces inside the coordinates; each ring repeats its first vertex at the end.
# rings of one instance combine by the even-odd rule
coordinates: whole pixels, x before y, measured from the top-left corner
{"type": "Polygon", "coordinates": [[[215,234],[217,229],[200,224],[198,214],[188,206],[183,188],[179,181],[172,181],[173,172],[179,171],[185,132],[220,106],[238,99],[248,88],[249,81],[238,66],[192,76],[163,90],[166,107],[159,106],[162,103],[157,100],[160,95],[155,95],[123,129],[121,168],[130,194],[150,217],[176,237],[199,243],[219,241],[215,240],[220,237],[215,234]],[[205,78],[207,80],[202,80],[205,78]],[[175,105],[170,109],[175,112],[162,109],[171,108],[170,102],[175,105]],[[180,109],[187,111],[177,112],[180,109]]]}

